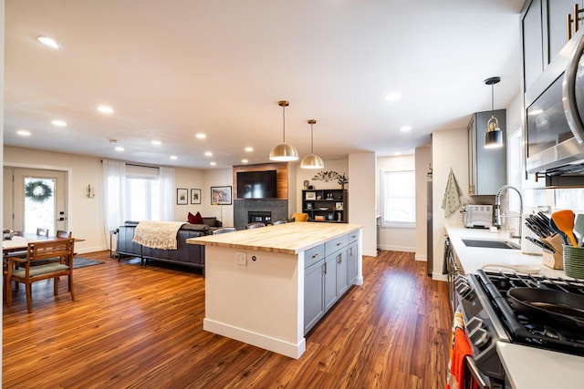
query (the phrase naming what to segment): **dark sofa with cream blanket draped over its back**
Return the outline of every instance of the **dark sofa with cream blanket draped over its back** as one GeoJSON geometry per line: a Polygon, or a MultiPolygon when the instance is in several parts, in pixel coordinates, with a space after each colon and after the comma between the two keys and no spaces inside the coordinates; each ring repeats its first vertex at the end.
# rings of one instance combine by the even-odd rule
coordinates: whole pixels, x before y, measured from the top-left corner
{"type": "MultiPolygon", "coordinates": [[[[215,218],[206,218],[213,223],[215,218]]],[[[185,266],[203,269],[204,274],[204,246],[190,244],[186,240],[203,235],[210,235],[212,227],[207,224],[184,223],[177,233],[177,250],[151,249],[133,242],[134,232],[138,221],[125,221],[114,233],[117,235],[116,254],[118,261],[124,256],[139,257],[141,266],[146,266],[148,261],[164,261],[185,266]]],[[[215,224],[216,225],[216,224],[215,224]]],[[[218,227],[213,227],[213,230],[218,227]]]]}

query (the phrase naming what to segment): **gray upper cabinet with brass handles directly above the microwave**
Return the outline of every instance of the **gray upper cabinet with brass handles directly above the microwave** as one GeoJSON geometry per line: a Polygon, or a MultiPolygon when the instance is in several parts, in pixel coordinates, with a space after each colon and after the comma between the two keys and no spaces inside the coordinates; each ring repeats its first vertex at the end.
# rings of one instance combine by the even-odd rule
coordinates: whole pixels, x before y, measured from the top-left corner
{"type": "Polygon", "coordinates": [[[525,3],[521,12],[524,91],[566,45],[569,29],[573,32],[575,26],[583,26],[582,14],[574,16],[574,5],[582,9],[584,0],[527,0],[525,3]]]}

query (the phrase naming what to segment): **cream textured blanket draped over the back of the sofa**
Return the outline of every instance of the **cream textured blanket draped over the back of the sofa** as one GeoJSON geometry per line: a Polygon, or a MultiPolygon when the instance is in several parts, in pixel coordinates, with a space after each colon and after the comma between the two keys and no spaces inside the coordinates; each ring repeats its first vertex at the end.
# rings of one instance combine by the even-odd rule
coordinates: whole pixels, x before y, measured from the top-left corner
{"type": "Polygon", "coordinates": [[[176,250],[176,234],[183,224],[182,221],[142,220],[132,241],[152,249],[176,250]]]}

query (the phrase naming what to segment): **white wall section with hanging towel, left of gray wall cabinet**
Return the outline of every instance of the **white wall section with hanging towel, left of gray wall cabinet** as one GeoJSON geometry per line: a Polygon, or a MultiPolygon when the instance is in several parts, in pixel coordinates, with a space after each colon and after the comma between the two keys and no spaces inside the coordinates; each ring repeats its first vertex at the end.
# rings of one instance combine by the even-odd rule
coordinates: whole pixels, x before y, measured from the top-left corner
{"type": "Polygon", "coordinates": [[[433,168],[433,279],[446,280],[442,274],[445,225],[462,225],[463,215],[458,210],[449,217],[444,215],[442,200],[448,174],[452,168],[464,199],[468,197],[468,133],[466,128],[436,131],[432,134],[433,168]]]}

